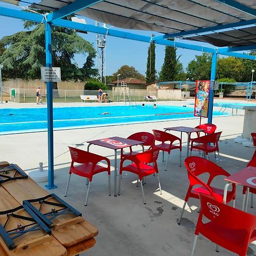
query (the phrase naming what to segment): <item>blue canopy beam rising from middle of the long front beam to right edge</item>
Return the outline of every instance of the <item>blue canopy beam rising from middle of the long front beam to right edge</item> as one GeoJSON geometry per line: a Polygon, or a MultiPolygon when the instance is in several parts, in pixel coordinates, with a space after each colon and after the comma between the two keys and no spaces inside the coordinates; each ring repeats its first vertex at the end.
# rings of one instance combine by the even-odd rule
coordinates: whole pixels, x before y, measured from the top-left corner
{"type": "Polygon", "coordinates": [[[230,31],[234,29],[251,27],[253,25],[256,25],[256,19],[243,20],[241,22],[234,22],[231,24],[217,25],[214,27],[197,28],[196,30],[182,31],[182,32],[177,32],[173,34],[165,34],[161,36],[154,36],[152,40],[156,42],[157,40],[160,40],[160,39],[175,38],[179,36],[189,37],[189,36],[197,36],[197,35],[209,35],[216,32],[225,32],[225,31],[230,31]]]}

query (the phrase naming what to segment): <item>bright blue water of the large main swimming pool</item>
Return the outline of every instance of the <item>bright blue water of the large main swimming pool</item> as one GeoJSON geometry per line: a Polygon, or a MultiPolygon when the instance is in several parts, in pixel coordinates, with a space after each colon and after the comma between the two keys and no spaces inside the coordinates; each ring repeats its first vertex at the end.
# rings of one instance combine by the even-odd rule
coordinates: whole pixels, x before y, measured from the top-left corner
{"type": "MultiPolygon", "coordinates": [[[[213,115],[219,115],[214,112],[213,115]]],[[[183,106],[85,106],[53,109],[55,130],[193,118],[183,106]],[[108,112],[109,114],[102,113],[108,112]]],[[[0,109],[0,134],[47,130],[47,108],[0,109]]]]}

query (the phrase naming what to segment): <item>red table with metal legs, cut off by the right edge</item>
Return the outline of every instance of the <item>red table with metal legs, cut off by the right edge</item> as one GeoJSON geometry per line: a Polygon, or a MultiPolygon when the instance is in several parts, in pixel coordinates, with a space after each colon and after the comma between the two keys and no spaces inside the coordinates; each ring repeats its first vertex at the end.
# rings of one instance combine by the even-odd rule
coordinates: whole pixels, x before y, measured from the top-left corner
{"type": "Polygon", "coordinates": [[[228,187],[230,184],[235,183],[247,187],[246,190],[246,200],[243,200],[242,210],[247,210],[249,189],[256,188],[256,167],[248,166],[241,171],[226,177],[224,180],[229,183],[225,185],[223,203],[226,204],[226,194],[228,193],[228,187]]]}

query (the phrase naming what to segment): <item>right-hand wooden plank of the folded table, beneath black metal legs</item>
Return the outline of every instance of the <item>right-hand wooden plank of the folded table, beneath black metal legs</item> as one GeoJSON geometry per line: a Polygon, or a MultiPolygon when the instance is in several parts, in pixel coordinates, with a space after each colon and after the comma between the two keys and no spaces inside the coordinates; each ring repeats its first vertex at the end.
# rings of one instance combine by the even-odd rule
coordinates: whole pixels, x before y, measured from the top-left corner
{"type": "MultiPolygon", "coordinates": [[[[5,188],[6,191],[20,204],[22,204],[23,200],[36,199],[49,195],[47,191],[36,184],[34,180],[30,179],[30,177],[28,177],[28,179],[14,180],[3,183],[2,187],[5,188]]],[[[57,201],[52,198],[47,200],[57,203],[57,201]]],[[[33,203],[33,205],[37,209],[40,208],[40,212],[42,213],[51,212],[52,209],[52,206],[47,204],[33,203]]],[[[59,208],[56,207],[56,209],[59,208]]],[[[75,214],[65,214],[54,218],[52,222],[54,225],[60,225],[61,223],[71,221],[76,217],[77,216],[75,214]]],[[[97,234],[97,228],[86,220],[77,224],[66,226],[64,228],[52,230],[52,235],[65,247],[76,245],[77,243],[97,236],[97,234]]]]}

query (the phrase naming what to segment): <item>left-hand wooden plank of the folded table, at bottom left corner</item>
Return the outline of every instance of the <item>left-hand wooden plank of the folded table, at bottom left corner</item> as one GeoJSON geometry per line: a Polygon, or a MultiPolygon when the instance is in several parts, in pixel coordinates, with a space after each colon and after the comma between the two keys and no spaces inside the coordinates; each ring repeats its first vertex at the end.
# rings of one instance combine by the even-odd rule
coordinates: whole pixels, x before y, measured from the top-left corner
{"type": "MultiPolygon", "coordinates": [[[[0,187],[0,210],[9,210],[15,207],[19,207],[19,203],[11,196],[5,189],[0,187]]],[[[30,217],[30,214],[26,212],[24,209],[20,209],[18,214],[21,214],[26,217],[30,217]]],[[[0,223],[4,225],[6,223],[7,216],[1,215],[0,216],[0,223]]],[[[14,217],[9,217],[9,221],[6,224],[6,229],[15,229],[17,228],[18,224],[21,225],[27,225],[30,224],[30,221],[18,219],[14,217]]],[[[46,232],[43,230],[37,230],[34,232],[28,232],[24,234],[23,236],[20,236],[15,239],[15,244],[20,245],[23,243],[30,242],[32,240],[36,240],[38,238],[41,238],[46,235],[46,232]]],[[[67,255],[67,250],[64,246],[62,246],[53,236],[50,236],[51,239],[48,239],[46,242],[40,243],[39,245],[36,245],[35,247],[25,247],[26,249],[18,250],[15,252],[15,250],[9,250],[9,248],[6,246],[5,242],[0,237],[0,247],[5,251],[5,253],[8,256],[45,256],[47,251],[47,256],[65,256],[67,255]]],[[[1,250],[0,250],[1,251],[1,250]]],[[[4,254],[3,254],[4,255],[4,254]]],[[[2,254],[1,254],[2,256],[2,254]]]]}

